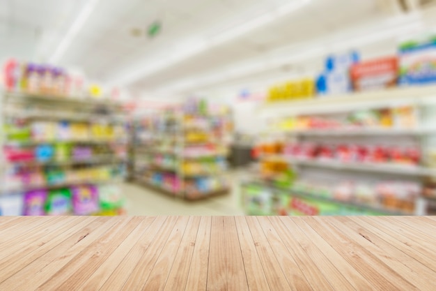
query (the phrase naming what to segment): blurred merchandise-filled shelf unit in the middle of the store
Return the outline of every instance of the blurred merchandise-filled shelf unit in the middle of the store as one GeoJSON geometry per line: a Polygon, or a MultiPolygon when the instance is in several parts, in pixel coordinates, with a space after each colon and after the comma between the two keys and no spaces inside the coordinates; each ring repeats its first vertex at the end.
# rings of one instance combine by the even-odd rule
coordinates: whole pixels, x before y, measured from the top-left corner
{"type": "Polygon", "coordinates": [[[171,195],[189,200],[225,193],[231,120],[226,107],[212,111],[205,101],[144,118],[135,129],[135,174],[171,195]]]}

